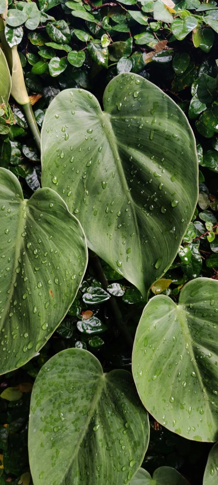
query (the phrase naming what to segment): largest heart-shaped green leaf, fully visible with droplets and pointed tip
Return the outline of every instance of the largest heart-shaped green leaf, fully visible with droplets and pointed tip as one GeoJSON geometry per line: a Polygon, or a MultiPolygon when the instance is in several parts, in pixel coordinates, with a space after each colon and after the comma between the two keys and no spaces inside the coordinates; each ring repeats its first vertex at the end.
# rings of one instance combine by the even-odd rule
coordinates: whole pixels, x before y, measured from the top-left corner
{"type": "Polygon", "coordinates": [[[103,103],[102,112],[81,89],[51,102],[42,127],[42,183],[64,197],[89,247],[146,297],[172,263],[195,209],[195,140],[179,107],[141,76],[115,77],[103,103]]]}

